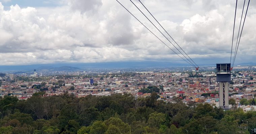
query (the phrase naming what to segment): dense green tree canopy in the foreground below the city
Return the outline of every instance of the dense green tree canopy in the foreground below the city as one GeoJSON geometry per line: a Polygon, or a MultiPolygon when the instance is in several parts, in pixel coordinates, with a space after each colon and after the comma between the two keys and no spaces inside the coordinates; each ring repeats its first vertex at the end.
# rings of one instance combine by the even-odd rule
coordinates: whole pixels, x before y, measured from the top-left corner
{"type": "Polygon", "coordinates": [[[131,94],[74,97],[67,93],[27,100],[0,98],[1,134],[235,134],[256,128],[256,112],[224,112],[209,104],[187,105],[131,94]],[[240,129],[243,128],[243,129],[240,129]]]}

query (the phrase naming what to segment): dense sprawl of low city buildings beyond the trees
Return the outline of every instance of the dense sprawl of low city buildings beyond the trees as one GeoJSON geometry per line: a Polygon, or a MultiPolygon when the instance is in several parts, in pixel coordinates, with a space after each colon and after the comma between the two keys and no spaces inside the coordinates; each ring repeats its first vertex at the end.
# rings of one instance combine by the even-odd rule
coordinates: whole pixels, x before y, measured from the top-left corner
{"type": "MultiPolygon", "coordinates": [[[[256,111],[255,67],[236,67],[228,84],[229,108],[256,111]]],[[[130,93],[137,97],[150,96],[153,91],[159,100],[173,102],[181,98],[185,104],[209,103],[220,107],[219,84],[212,67],[208,71],[175,69],[143,70],[86,70],[58,72],[2,73],[0,96],[11,95],[28,99],[34,93],[44,91],[44,96],[61,95],[65,92],[76,97],[104,96],[130,93]],[[40,75],[38,75],[40,74],[40,75]]]]}

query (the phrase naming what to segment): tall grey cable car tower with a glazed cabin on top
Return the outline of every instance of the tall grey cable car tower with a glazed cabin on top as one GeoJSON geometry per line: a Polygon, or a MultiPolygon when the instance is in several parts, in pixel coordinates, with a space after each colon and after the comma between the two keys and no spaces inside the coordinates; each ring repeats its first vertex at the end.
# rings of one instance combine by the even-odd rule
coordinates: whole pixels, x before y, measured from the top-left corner
{"type": "Polygon", "coordinates": [[[216,64],[217,82],[219,83],[220,108],[223,108],[224,110],[229,109],[228,85],[231,81],[231,70],[232,68],[230,63],[216,64]]]}

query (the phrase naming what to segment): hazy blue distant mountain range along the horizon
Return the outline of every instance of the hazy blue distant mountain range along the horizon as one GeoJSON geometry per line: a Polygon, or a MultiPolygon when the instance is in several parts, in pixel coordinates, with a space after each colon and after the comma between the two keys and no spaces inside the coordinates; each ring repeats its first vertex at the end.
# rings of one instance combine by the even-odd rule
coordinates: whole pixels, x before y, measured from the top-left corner
{"type": "MultiPolygon", "coordinates": [[[[200,66],[215,66],[216,64],[200,64],[200,66]]],[[[236,65],[256,65],[256,63],[241,63],[236,65]]],[[[163,62],[163,61],[140,61],[140,62],[101,62],[101,63],[54,63],[35,64],[20,66],[0,66],[0,72],[4,71],[81,71],[88,69],[110,69],[110,68],[160,68],[160,67],[188,67],[188,64],[163,62]]]]}

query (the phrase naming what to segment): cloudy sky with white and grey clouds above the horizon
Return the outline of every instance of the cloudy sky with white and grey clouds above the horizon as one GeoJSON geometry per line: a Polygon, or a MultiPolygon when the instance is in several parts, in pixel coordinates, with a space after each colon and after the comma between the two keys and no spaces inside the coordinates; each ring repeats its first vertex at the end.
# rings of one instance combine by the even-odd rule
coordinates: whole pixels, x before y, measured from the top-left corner
{"type": "MultiPolygon", "coordinates": [[[[175,50],[130,1],[119,1],[175,50]]],[[[197,64],[229,63],[235,0],[142,2],[197,64]]],[[[251,0],[235,63],[256,62],[255,7],[251,0]]],[[[116,0],[0,0],[1,65],[118,61],[184,63],[116,0]]]]}

